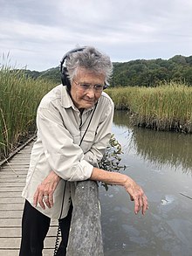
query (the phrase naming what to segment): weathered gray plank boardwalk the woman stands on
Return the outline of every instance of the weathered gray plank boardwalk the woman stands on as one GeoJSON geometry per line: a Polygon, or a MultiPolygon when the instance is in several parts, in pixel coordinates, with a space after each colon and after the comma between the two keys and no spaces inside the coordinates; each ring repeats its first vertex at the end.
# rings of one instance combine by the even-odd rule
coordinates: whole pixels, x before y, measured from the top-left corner
{"type": "MultiPolygon", "coordinates": [[[[21,218],[24,198],[21,197],[30,162],[32,142],[17,152],[0,169],[0,255],[18,256],[21,241],[21,218]]],[[[45,239],[44,256],[53,255],[57,221],[51,222],[45,239]]],[[[26,255],[27,256],[27,255],[26,255]]]]}

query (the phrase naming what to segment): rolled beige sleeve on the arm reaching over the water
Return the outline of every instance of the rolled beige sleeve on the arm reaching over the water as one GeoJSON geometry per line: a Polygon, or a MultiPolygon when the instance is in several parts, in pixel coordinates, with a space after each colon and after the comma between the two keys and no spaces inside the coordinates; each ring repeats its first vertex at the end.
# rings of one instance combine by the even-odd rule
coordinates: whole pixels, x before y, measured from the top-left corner
{"type": "Polygon", "coordinates": [[[37,126],[51,170],[68,181],[86,180],[92,175],[93,165],[73,142],[55,107],[38,107],[37,126]]]}

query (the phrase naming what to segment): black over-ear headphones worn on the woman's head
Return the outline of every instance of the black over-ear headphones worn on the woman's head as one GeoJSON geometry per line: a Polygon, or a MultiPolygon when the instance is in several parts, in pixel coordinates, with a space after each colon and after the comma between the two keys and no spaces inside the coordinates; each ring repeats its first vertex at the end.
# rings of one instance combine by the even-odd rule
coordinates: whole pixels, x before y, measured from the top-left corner
{"type": "MultiPolygon", "coordinates": [[[[75,48],[69,52],[66,52],[64,57],[61,59],[60,61],[60,73],[61,73],[61,81],[62,81],[62,84],[63,86],[66,86],[67,87],[67,90],[70,91],[71,90],[71,82],[69,80],[69,78],[67,77],[67,69],[66,67],[64,66],[64,63],[65,63],[65,59],[69,56],[69,54],[73,53],[73,52],[81,52],[83,51],[84,49],[86,49],[86,47],[79,47],[79,48],[75,48]]],[[[106,89],[108,85],[106,84],[105,82],[105,86],[104,86],[104,89],[106,89]]]]}

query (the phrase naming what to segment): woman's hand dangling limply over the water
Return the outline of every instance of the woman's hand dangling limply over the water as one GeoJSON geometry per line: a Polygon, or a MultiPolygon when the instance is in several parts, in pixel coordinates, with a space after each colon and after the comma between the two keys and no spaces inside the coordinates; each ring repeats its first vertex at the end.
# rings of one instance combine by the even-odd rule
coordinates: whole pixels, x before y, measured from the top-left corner
{"type": "Polygon", "coordinates": [[[135,183],[133,179],[127,176],[127,181],[124,184],[124,188],[130,195],[130,199],[134,201],[134,213],[137,214],[142,209],[142,214],[144,215],[148,209],[148,203],[147,197],[141,187],[135,183]]]}

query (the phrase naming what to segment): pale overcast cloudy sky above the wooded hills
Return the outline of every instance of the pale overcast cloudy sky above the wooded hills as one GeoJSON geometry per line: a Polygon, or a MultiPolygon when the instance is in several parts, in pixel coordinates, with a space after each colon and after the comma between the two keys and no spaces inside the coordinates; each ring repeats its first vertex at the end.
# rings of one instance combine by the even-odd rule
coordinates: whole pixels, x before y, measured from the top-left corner
{"type": "Polygon", "coordinates": [[[93,45],[112,61],[192,55],[191,0],[0,0],[0,63],[43,71],[93,45]]]}

